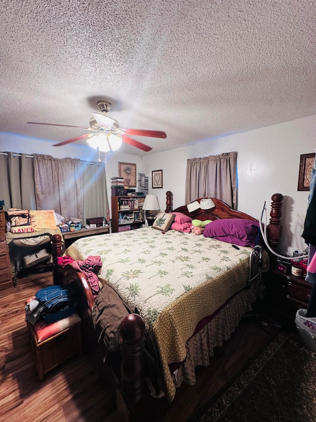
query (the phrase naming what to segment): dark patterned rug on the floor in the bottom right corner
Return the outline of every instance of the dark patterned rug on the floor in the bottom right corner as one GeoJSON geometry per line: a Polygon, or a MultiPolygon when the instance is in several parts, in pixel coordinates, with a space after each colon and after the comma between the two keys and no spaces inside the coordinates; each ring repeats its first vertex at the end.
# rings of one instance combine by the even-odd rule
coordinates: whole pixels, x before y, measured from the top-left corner
{"type": "Polygon", "coordinates": [[[316,353],[281,332],[199,422],[316,422],[316,353]]]}

